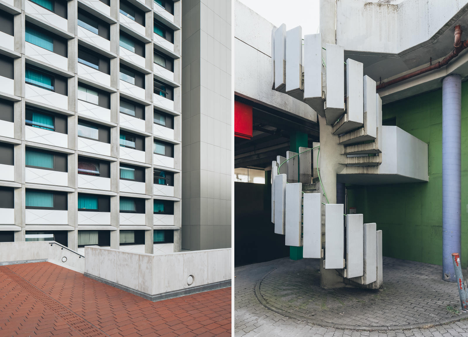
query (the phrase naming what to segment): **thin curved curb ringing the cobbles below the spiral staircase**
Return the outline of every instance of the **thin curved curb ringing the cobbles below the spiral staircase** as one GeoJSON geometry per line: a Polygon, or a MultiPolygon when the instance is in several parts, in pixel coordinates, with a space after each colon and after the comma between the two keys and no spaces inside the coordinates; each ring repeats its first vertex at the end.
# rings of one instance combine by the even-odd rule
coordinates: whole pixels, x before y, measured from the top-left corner
{"type": "Polygon", "coordinates": [[[325,323],[322,321],[314,320],[310,317],[305,317],[301,315],[296,315],[290,312],[287,312],[283,309],[277,308],[272,306],[270,303],[268,303],[260,293],[260,284],[262,283],[263,279],[267,277],[271,272],[273,272],[277,268],[271,269],[269,272],[267,272],[263,277],[259,280],[257,280],[256,285],[255,285],[255,297],[257,300],[260,302],[260,304],[263,305],[263,307],[276,312],[279,315],[283,315],[289,318],[297,319],[298,321],[305,321],[309,322],[315,325],[319,325],[325,328],[335,328],[335,329],[344,329],[344,330],[359,330],[359,331],[389,331],[389,330],[409,330],[409,329],[417,329],[417,328],[423,328],[423,329],[428,329],[436,325],[443,325],[443,324],[448,324],[448,323],[453,323],[457,321],[461,321],[462,319],[467,319],[468,318],[468,313],[467,314],[460,314],[456,317],[452,318],[446,318],[444,320],[440,321],[431,321],[431,322],[424,322],[424,323],[417,323],[417,324],[406,324],[406,325],[388,325],[388,326],[362,326],[362,325],[346,325],[346,324],[334,324],[334,323],[325,323]]]}

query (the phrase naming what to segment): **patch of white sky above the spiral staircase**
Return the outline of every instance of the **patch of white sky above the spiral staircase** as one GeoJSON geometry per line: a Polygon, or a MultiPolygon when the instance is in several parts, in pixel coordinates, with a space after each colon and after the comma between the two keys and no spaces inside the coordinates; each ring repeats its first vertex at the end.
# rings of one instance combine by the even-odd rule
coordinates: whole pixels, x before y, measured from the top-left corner
{"type": "Polygon", "coordinates": [[[302,27],[302,35],[316,34],[319,27],[319,0],[239,0],[279,27],[302,27]],[[285,6],[286,5],[286,6],[285,6]]]}

